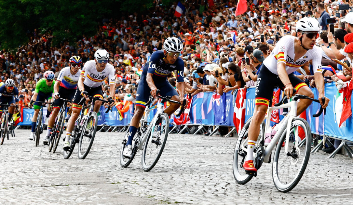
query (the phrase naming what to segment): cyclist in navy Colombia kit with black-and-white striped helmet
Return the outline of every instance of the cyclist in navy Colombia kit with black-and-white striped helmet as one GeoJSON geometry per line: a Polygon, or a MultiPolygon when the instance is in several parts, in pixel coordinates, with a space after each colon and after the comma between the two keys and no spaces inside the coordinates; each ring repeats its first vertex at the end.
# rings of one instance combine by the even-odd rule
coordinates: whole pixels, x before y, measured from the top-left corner
{"type": "MultiPolygon", "coordinates": [[[[158,89],[163,97],[172,96],[171,100],[180,102],[184,100],[184,62],[183,59],[179,58],[180,52],[183,50],[183,44],[178,38],[168,37],[164,41],[163,49],[163,51],[152,53],[150,61],[143,68],[136,92],[136,109],[130,122],[128,140],[123,152],[124,156],[131,157],[132,139],[137,132],[139,121],[143,116],[145,104],[150,95],[156,97],[158,89]],[[178,74],[179,95],[167,79],[167,76],[175,70],[178,74]]],[[[164,113],[171,115],[179,106],[179,104],[170,103],[164,113]]]]}

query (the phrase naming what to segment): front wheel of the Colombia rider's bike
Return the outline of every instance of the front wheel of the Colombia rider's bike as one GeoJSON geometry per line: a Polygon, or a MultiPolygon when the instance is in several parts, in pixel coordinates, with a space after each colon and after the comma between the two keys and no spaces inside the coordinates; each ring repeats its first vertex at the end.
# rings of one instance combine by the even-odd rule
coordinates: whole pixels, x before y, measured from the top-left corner
{"type": "Polygon", "coordinates": [[[142,151],[142,169],[146,172],[150,171],[157,164],[166,145],[169,132],[168,115],[166,113],[160,114],[156,123],[150,124],[150,126],[152,128],[142,151]]]}

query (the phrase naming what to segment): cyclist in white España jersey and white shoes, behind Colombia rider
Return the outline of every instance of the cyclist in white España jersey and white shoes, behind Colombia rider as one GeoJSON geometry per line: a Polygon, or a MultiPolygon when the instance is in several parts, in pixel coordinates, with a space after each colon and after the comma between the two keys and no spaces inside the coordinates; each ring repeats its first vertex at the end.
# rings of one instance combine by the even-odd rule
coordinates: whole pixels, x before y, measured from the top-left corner
{"type": "MultiPolygon", "coordinates": [[[[74,124],[80,114],[82,109],[82,104],[79,104],[82,97],[87,98],[87,96],[100,97],[103,99],[102,94],[102,84],[103,81],[108,78],[110,95],[108,97],[109,106],[112,107],[114,104],[114,94],[115,94],[115,76],[114,76],[114,66],[108,64],[109,53],[104,49],[98,49],[94,54],[95,59],[87,61],[82,69],[80,78],[78,80],[76,93],[73,97],[72,103],[72,114],[67,122],[66,129],[66,139],[62,146],[63,149],[69,148],[69,140],[71,132],[73,130],[74,124]]],[[[98,113],[101,107],[102,101],[96,101],[94,104],[94,111],[98,113]]]]}

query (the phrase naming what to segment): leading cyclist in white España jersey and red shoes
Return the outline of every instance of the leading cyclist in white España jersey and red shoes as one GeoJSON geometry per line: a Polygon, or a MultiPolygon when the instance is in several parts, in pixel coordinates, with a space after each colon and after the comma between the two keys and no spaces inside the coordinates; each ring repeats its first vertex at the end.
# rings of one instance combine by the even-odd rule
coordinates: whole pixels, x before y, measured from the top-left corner
{"type": "MultiPolygon", "coordinates": [[[[304,17],[297,22],[295,31],[297,31],[298,37],[284,36],[276,44],[271,55],[264,60],[257,77],[255,111],[249,126],[247,155],[243,165],[247,174],[255,174],[257,172],[253,163],[253,152],[259,136],[260,124],[264,120],[269,101],[272,99],[273,89],[276,87],[282,89],[287,98],[292,97],[294,88],[300,95],[314,97],[309,87],[293,74],[294,71],[309,62],[309,60],[312,60],[320,104],[322,108],[326,108],[328,105],[329,99],[324,96],[321,52],[315,46],[321,26],[315,18],[304,17]],[[321,97],[325,97],[325,104],[322,103],[321,97]]],[[[300,100],[297,115],[302,113],[310,104],[311,100],[300,100]]]]}

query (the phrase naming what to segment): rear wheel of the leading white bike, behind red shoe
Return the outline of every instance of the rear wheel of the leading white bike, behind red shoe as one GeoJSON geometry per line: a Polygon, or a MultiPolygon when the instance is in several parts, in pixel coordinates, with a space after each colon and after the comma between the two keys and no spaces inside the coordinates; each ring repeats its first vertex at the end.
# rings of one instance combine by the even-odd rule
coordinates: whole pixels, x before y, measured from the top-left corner
{"type": "MultiPolygon", "coordinates": [[[[245,162],[246,159],[246,155],[247,153],[247,135],[249,132],[249,126],[250,126],[250,122],[251,122],[252,117],[246,121],[246,123],[244,124],[243,128],[241,128],[238,140],[237,140],[237,144],[235,145],[235,149],[234,149],[234,155],[233,155],[233,175],[234,175],[234,179],[235,181],[238,182],[238,184],[246,184],[247,182],[249,182],[253,175],[249,175],[245,173],[245,170],[243,168],[243,164],[245,162]]],[[[262,139],[262,136],[265,134],[265,123],[261,123],[260,126],[260,133],[258,136],[258,141],[256,142],[256,146],[258,147],[259,145],[259,141],[262,139]]],[[[254,149],[254,153],[255,154],[256,149],[254,149]]],[[[254,160],[254,165],[256,163],[256,160],[254,160]]],[[[255,165],[256,166],[256,165],[255,165]]]]}

